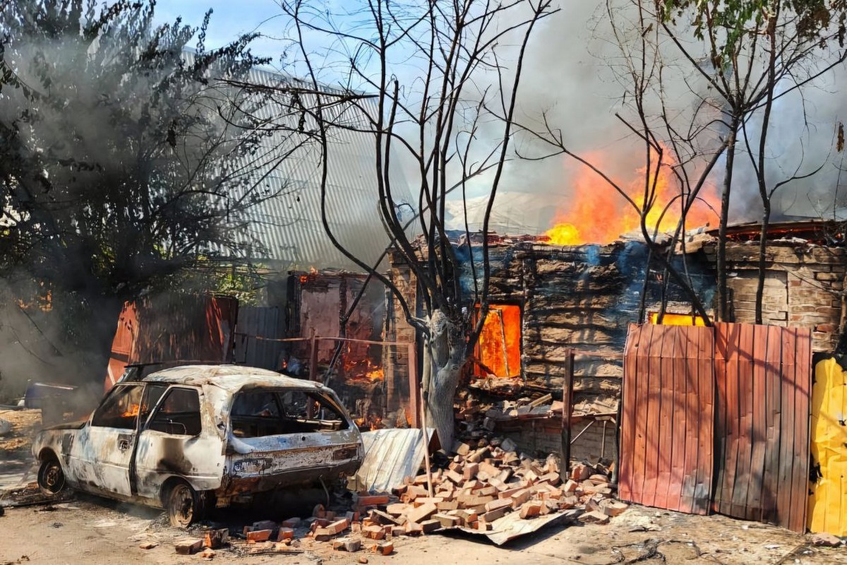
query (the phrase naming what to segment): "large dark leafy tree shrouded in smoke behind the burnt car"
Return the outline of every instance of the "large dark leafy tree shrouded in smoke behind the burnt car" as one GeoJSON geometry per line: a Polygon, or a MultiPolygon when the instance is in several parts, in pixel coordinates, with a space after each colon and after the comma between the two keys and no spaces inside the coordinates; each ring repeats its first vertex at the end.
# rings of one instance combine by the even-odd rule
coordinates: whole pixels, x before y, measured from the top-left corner
{"type": "Polygon", "coordinates": [[[246,211],[273,196],[261,97],[221,81],[265,62],[254,36],[207,49],[211,12],[157,26],[154,8],[0,2],[0,269],[47,285],[100,359],[123,302],[243,254],[246,211]]]}

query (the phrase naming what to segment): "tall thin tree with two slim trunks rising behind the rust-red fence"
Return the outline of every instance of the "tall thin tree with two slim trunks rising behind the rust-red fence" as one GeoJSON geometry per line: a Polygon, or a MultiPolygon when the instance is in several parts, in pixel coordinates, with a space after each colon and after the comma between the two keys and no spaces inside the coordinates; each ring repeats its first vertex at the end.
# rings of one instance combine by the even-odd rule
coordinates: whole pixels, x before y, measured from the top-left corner
{"type": "Polygon", "coordinates": [[[720,229],[717,252],[717,315],[729,319],[726,242],[729,199],[732,191],[739,132],[744,136],[750,163],[756,171],[763,214],[759,247],[759,280],[756,288],[756,323],[761,324],[761,302],[766,268],[767,225],[773,192],[810,174],[799,174],[767,190],[767,130],[773,102],[792,91],[801,91],[813,80],[844,62],[847,7],[834,0],[751,0],[746,2],[656,3],[650,25],[661,26],[678,54],[699,73],[723,102],[728,130],[724,164],[720,229]],[[690,41],[693,29],[694,41],[690,41]],[[836,47],[837,46],[837,47],[836,47]],[[708,64],[703,64],[704,58],[708,64]],[[758,151],[750,149],[748,125],[761,121],[758,151]]]}

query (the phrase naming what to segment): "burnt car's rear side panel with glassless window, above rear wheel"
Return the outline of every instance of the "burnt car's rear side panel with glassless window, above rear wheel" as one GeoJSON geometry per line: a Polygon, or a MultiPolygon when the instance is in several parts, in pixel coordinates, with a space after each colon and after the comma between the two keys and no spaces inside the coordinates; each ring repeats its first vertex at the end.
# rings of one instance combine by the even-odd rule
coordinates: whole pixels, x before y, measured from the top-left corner
{"type": "Polygon", "coordinates": [[[143,424],[136,448],[139,496],[156,498],[165,480],[178,476],[195,490],[220,485],[224,456],[219,436],[205,421],[202,390],[171,386],[143,424]]]}

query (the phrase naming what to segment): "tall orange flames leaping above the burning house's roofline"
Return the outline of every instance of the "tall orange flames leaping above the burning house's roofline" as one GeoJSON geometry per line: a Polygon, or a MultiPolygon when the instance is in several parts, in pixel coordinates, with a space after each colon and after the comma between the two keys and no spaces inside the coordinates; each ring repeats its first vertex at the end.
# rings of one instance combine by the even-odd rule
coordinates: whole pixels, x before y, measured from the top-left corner
{"type": "MultiPolygon", "coordinates": [[[[673,167],[677,164],[673,152],[666,148],[662,158],[664,162],[656,178],[655,201],[645,222],[649,230],[655,229],[658,224],[660,233],[676,228],[682,206],[682,198],[677,198],[662,216],[664,208],[679,194],[678,180],[673,175],[673,167]]],[[[602,155],[591,155],[590,161],[597,163],[601,170],[609,169],[606,166],[608,158],[602,155]]],[[[637,169],[635,180],[629,183],[615,179],[617,185],[623,187],[639,208],[644,207],[645,172],[645,167],[637,169]]],[[[699,196],[709,202],[712,208],[719,208],[715,186],[707,183],[700,190],[699,196]]],[[[686,215],[685,228],[706,225],[714,219],[715,213],[711,208],[698,200],[686,215]]],[[[566,209],[556,214],[556,224],[545,235],[554,245],[606,244],[632,231],[640,233],[639,213],[594,171],[581,167],[573,180],[571,202],[566,209]]]]}

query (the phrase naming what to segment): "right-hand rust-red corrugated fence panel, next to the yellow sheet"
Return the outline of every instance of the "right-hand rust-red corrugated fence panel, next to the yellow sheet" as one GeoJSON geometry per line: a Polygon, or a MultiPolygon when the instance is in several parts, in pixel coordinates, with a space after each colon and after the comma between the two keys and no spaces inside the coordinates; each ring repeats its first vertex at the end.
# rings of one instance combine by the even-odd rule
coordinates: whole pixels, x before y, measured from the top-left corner
{"type": "Polygon", "coordinates": [[[714,509],[803,532],[811,330],[716,324],[714,509]]]}

